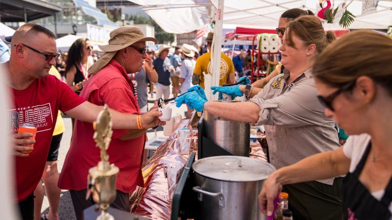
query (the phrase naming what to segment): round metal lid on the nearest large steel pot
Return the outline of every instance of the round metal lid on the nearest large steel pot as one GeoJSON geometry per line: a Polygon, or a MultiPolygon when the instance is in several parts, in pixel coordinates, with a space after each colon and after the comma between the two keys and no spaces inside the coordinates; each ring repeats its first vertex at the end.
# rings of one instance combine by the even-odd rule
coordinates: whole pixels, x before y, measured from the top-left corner
{"type": "Polygon", "coordinates": [[[202,176],[229,182],[264,180],[276,170],[267,162],[239,156],[206,157],[195,161],[192,168],[202,176]]]}

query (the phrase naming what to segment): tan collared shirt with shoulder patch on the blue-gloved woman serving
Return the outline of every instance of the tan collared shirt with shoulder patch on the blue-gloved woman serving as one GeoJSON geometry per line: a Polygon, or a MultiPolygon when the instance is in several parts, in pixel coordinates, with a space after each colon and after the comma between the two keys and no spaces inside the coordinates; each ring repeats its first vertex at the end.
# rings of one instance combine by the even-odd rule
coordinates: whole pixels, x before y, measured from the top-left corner
{"type": "MultiPolygon", "coordinates": [[[[275,76],[249,100],[260,106],[254,125],[264,125],[270,162],[277,169],[340,147],[333,119],[325,117],[316,98],[311,69],[287,85],[289,76],[288,71],[275,76]]],[[[319,182],[332,185],[333,179],[319,182]]]]}

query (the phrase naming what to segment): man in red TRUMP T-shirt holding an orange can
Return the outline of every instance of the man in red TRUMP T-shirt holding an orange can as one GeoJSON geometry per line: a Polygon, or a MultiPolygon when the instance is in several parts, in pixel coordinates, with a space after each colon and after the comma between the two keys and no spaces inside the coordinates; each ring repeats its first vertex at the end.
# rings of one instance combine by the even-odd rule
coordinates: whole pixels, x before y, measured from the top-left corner
{"type": "MultiPolygon", "coordinates": [[[[92,123],[103,109],[77,96],[56,77],[49,76],[49,69],[59,55],[51,31],[36,24],[26,24],[12,36],[11,57],[3,64],[8,70],[5,74],[14,101],[8,117],[16,156],[17,202],[23,220],[33,220],[33,192],[42,176],[58,110],[92,123]],[[35,140],[24,139],[32,133],[17,133],[22,123],[36,125],[35,140]],[[33,143],[34,148],[24,146],[33,143]]],[[[110,112],[114,129],[138,129],[136,114],[110,112]]],[[[141,117],[143,128],[164,124],[159,121],[159,115],[157,109],[144,114],[141,117]]]]}

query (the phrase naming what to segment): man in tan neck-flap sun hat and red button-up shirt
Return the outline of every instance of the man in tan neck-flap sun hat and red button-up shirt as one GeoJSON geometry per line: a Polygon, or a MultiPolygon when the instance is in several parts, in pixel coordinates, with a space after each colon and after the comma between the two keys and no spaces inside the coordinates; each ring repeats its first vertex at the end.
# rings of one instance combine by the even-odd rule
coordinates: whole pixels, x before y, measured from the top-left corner
{"type": "MultiPolygon", "coordinates": [[[[107,104],[119,112],[141,115],[136,90],[128,73],[142,70],[146,59],[145,41],[157,43],[155,38],[144,37],[138,27],[123,26],[110,32],[109,44],[99,46],[107,52],[88,70],[89,80],[80,96],[97,105],[107,104]]],[[[157,104],[151,111],[156,111],[157,104]]],[[[147,112],[146,114],[148,114],[147,112]]],[[[116,200],[112,207],[129,212],[129,193],[143,187],[142,160],[145,129],[114,129],[107,150],[110,163],[119,167],[116,200]]],[[[70,150],[59,178],[59,188],[69,189],[77,220],[83,210],[93,205],[86,200],[88,169],[100,160],[100,151],[93,140],[93,126],[76,120],[70,150]]]]}

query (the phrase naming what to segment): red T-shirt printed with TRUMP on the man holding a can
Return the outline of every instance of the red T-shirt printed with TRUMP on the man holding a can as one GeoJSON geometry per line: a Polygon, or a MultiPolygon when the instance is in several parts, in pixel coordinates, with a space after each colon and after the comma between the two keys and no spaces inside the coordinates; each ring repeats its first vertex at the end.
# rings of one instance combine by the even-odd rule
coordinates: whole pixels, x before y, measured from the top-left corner
{"type": "Polygon", "coordinates": [[[29,157],[15,157],[18,202],[33,193],[41,179],[59,110],[65,112],[85,100],[55,76],[36,79],[24,90],[10,88],[14,108],[8,111],[10,133],[17,133],[21,123],[37,127],[36,143],[29,157]]]}

